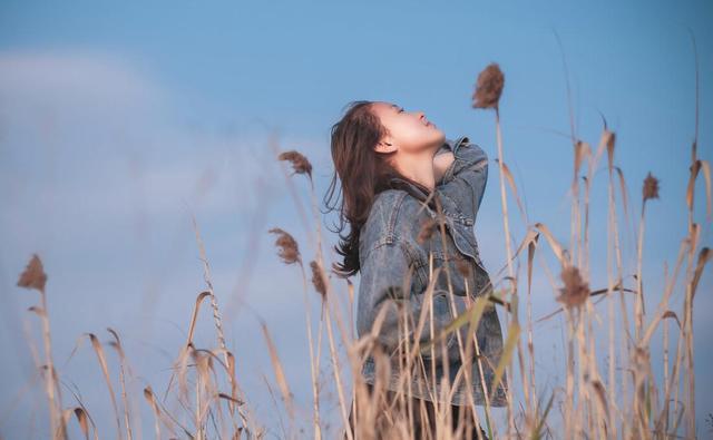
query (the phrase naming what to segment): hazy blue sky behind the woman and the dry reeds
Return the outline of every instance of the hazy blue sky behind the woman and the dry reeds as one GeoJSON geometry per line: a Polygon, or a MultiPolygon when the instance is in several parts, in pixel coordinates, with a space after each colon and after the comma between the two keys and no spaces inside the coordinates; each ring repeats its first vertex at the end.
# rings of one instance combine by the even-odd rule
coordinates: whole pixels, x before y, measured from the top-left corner
{"type": "MultiPolygon", "coordinates": [[[[113,326],[125,336],[143,380],[160,389],[204,287],[191,215],[206,245],[228,344],[248,353],[242,374],[257,412],[276,427],[260,375],[272,378],[255,313],[267,322],[293,391],[309,410],[302,292],[294,287],[300,275],[280,264],[266,231],[292,232],[305,255],[314,247],[274,160],[271,130],[279,130],[282,149],[309,156],[318,196],[333,169],[329,130],[352,99],[421,109],[447,136],[468,135],[495,158],[492,115],[470,108],[477,74],[491,61],[506,75],[505,160],[530,222],[549,225],[567,243],[573,155],[563,52],[576,133],[596,146],[600,115],[616,131],[616,160],[635,218],[641,182],[649,170],[660,178],[661,199],[647,205],[644,260],[645,283],[658,299],[664,264],[675,262],[687,222],[695,120],[690,30],[700,62],[699,155],[711,160],[712,19],[713,7],[704,1],[2,2],[0,349],[13,355],[0,366],[0,408],[13,408],[13,417],[0,420],[0,433],[42,437],[40,421],[32,431],[29,420],[14,417],[36,404],[41,409],[41,394],[12,403],[32,368],[22,323],[36,297],[14,286],[31,253],[40,254],[49,274],[56,358],[65,360],[84,332],[106,339],[104,329],[113,326]]],[[[606,281],[606,170],[598,169],[598,209],[592,214],[597,287],[606,281]]],[[[305,182],[296,183],[306,197],[305,182]]],[[[695,215],[702,223],[704,208],[699,185],[695,215]]],[[[524,225],[514,205],[510,211],[519,241],[524,225]]],[[[632,222],[624,237],[629,270],[632,222]]],[[[495,166],[476,232],[486,266],[497,272],[505,248],[495,166]]],[[[710,246],[709,225],[701,239],[710,246]]],[[[556,307],[539,272],[536,317],[556,307]]],[[[694,315],[701,390],[713,385],[704,374],[713,366],[703,339],[713,331],[710,286],[706,274],[694,315]]],[[[551,354],[560,331],[558,320],[538,327],[543,387],[556,382],[564,365],[551,354]]],[[[198,338],[213,343],[207,315],[198,338]]],[[[96,387],[100,370],[86,346],[62,373],[91,408],[109,415],[106,393],[96,387]]],[[[701,392],[700,429],[707,428],[711,411],[713,399],[701,392]]],[[[271,434],[279,436],[276,428],[271,434]]]]}

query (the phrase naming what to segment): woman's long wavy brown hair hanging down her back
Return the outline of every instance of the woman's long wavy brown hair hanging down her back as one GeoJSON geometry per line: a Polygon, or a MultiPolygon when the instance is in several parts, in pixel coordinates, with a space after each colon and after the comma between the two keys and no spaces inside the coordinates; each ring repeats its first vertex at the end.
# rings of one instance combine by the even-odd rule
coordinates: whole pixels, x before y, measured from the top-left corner
{"type": "Polygon", "coordinates": [[[388,134],[379,117],[371,111],[373,101],[355,100],[346,105],[344,116],[332,126],[332,160],[334,175],[324,196],[328,212],[339,212],[340,242],[334,246],[343,257],[334,263],[335,272],[344,277],[356,274],[359,264],[359,236],[369,218],[369,212],[379,193],[391,187],[391,178],[412,182],[393,168],[389,158],[393,153],[377,153],[374,147],[388,134]],[[341,201],[335,196],[341,183],[341,201]],[[344,229],[349,226],[349,233],[344,229]]]}

